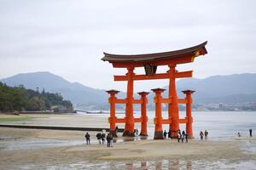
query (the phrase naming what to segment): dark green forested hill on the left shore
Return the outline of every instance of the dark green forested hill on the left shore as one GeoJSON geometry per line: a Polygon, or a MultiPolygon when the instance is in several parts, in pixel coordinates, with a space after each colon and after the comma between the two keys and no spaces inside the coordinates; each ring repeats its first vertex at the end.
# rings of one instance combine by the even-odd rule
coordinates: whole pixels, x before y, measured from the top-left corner
{"type": "Polygon", "coordinates": [[[0,111],[73,111],[60,94],[40,93],[23,86],[11,88],[0,82],[0,111]]]}

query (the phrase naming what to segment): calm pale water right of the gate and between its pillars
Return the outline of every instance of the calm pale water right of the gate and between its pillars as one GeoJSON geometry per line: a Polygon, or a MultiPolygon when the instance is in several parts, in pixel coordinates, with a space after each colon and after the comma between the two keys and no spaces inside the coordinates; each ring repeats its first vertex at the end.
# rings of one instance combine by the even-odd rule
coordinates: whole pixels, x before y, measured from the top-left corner
{"type": "MultiPolygon", "coordinates": [[[[163,112],[163,117],[167,118],[167,112],[163,112]]],[[[185,117],[184,111],[180,112],[180,118],[185,117]]],[[[119,115],[120,116],[120,115],[119,115]]],[[[140,113],[136,112],[135,116],[139,117],[140,113]]],[[[199,133],[207,129],[210,139],[230,139],[238,132],[242,136],[249,135],[248,129],[252,128],[256,134],[256,111],[193,111],[193,131],[196,139],[199,139],[199,133]]],[[[154,111],[148,111],[148,118],[154,118],[154,111]]],[[[140,129],[140,124],[136,127],[140,129]]],[[[168,129],[168,125],[163,126],[163,130],[168,129]]],[[[180,126],[185,130],[185,125],[180,126]]],[[[152,120],[148,122],[148,133],[154,135],[154,124],[152,120]]]]}

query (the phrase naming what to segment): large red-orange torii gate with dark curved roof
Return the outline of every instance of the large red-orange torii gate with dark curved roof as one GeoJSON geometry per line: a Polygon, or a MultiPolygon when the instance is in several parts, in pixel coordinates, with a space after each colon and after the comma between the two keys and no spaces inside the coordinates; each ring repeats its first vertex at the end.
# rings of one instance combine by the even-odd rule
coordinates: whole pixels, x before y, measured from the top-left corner
{"type": "Polygon", "coordinates": [[[186,131],[189,137],[193,137],[192,131],[192,116],[191,116],[191,94],[194,91],[183,91],[186,94],[185,99],[177,99],[176,92],[176,78],[192,77],[192,71],[178,72],[175,68],[176,65],[194,62],[195,57],[207,54],[205,48],[207,42],[203,42],[195,47],[184,48],[176,51],[156,53],[156,54],[137,54],[137,55],[120,55],[120,54],[107,54],[104,53],[103,61],[108,61],[114,68],[126,68],[127,73],[125,76],[114,76],[114,81],[127,81],[127,94],[126,99],[117,99],[115,94],[119,91],[109,90],[110,94],[110,132],[114,133],[115,123],[124,122],[125,132],[124,136],[134,136],[134,122],[142,122],[142,135],[147,135],[147,122],[148,117],[146,113],[148,93],[141,92],[141,99],[133,99],[133,82],[138,80],[154,80],[154,79],[169,79],[169,95],[167,99],[161,97],[161,93],[165,90],[162,88],[152,89],[155,93],[155,132],[154,139],[162,139],[162,124],[169,124],[169,130],[172,132],[172,137],[177,137],[177,130],[179,123],[186,123],[186,131]],[[156,73],[158,65],[168,65],[169,71],[166,73],[156,73]],[[134,69],[136,67],[144,67],[145,75],[136,75],[134,69]],[[161,116],[161,104],[168,104],[168,119],[163,119],[161,116]],[[117,118],[115,116],[115,104],[125,104],[125,118],[117,118]],[[142,116],[134,118],[133,104],[142,105],[142,116]],[[186,117],[179,119],[178,104],[186,104],[186,117]]]}

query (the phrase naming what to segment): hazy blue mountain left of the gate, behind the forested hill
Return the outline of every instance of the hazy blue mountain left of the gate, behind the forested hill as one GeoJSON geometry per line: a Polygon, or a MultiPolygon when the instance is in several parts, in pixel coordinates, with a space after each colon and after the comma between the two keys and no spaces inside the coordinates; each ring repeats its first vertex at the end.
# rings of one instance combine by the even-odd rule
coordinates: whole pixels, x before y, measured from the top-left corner
{"type": "Polygon", "coordinates": [[[60,93],[64,99],[71,100],[75,105],[96,105],[96,107],[108,105],[106,102],[108,94],[104,90],[89,88],[79,82],[68,82],[49,72],[18,74],[0,81],[9,86],[22,84],[24,87],[34,90],[39,88],[39,91],[44,89],[47,92],[60,93]]]}

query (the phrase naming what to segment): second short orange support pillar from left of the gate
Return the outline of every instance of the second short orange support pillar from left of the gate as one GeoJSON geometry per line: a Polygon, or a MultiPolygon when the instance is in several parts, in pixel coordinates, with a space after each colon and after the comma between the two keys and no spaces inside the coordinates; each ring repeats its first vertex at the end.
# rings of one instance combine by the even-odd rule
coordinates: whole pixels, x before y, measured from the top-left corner
{"type": "Polygon", "coordinates": [[[147,132],[147,122],[148,122],[148,116],[147,116],[147,104],[148,104],[148,99],[147,95],[149,94],[148,92],[140,92],[137,93],[140,94],[142,104],[141,104],[141,119],[142,119],[142,130],[140,133],[140,136],[148,136],[147,132]]]}

